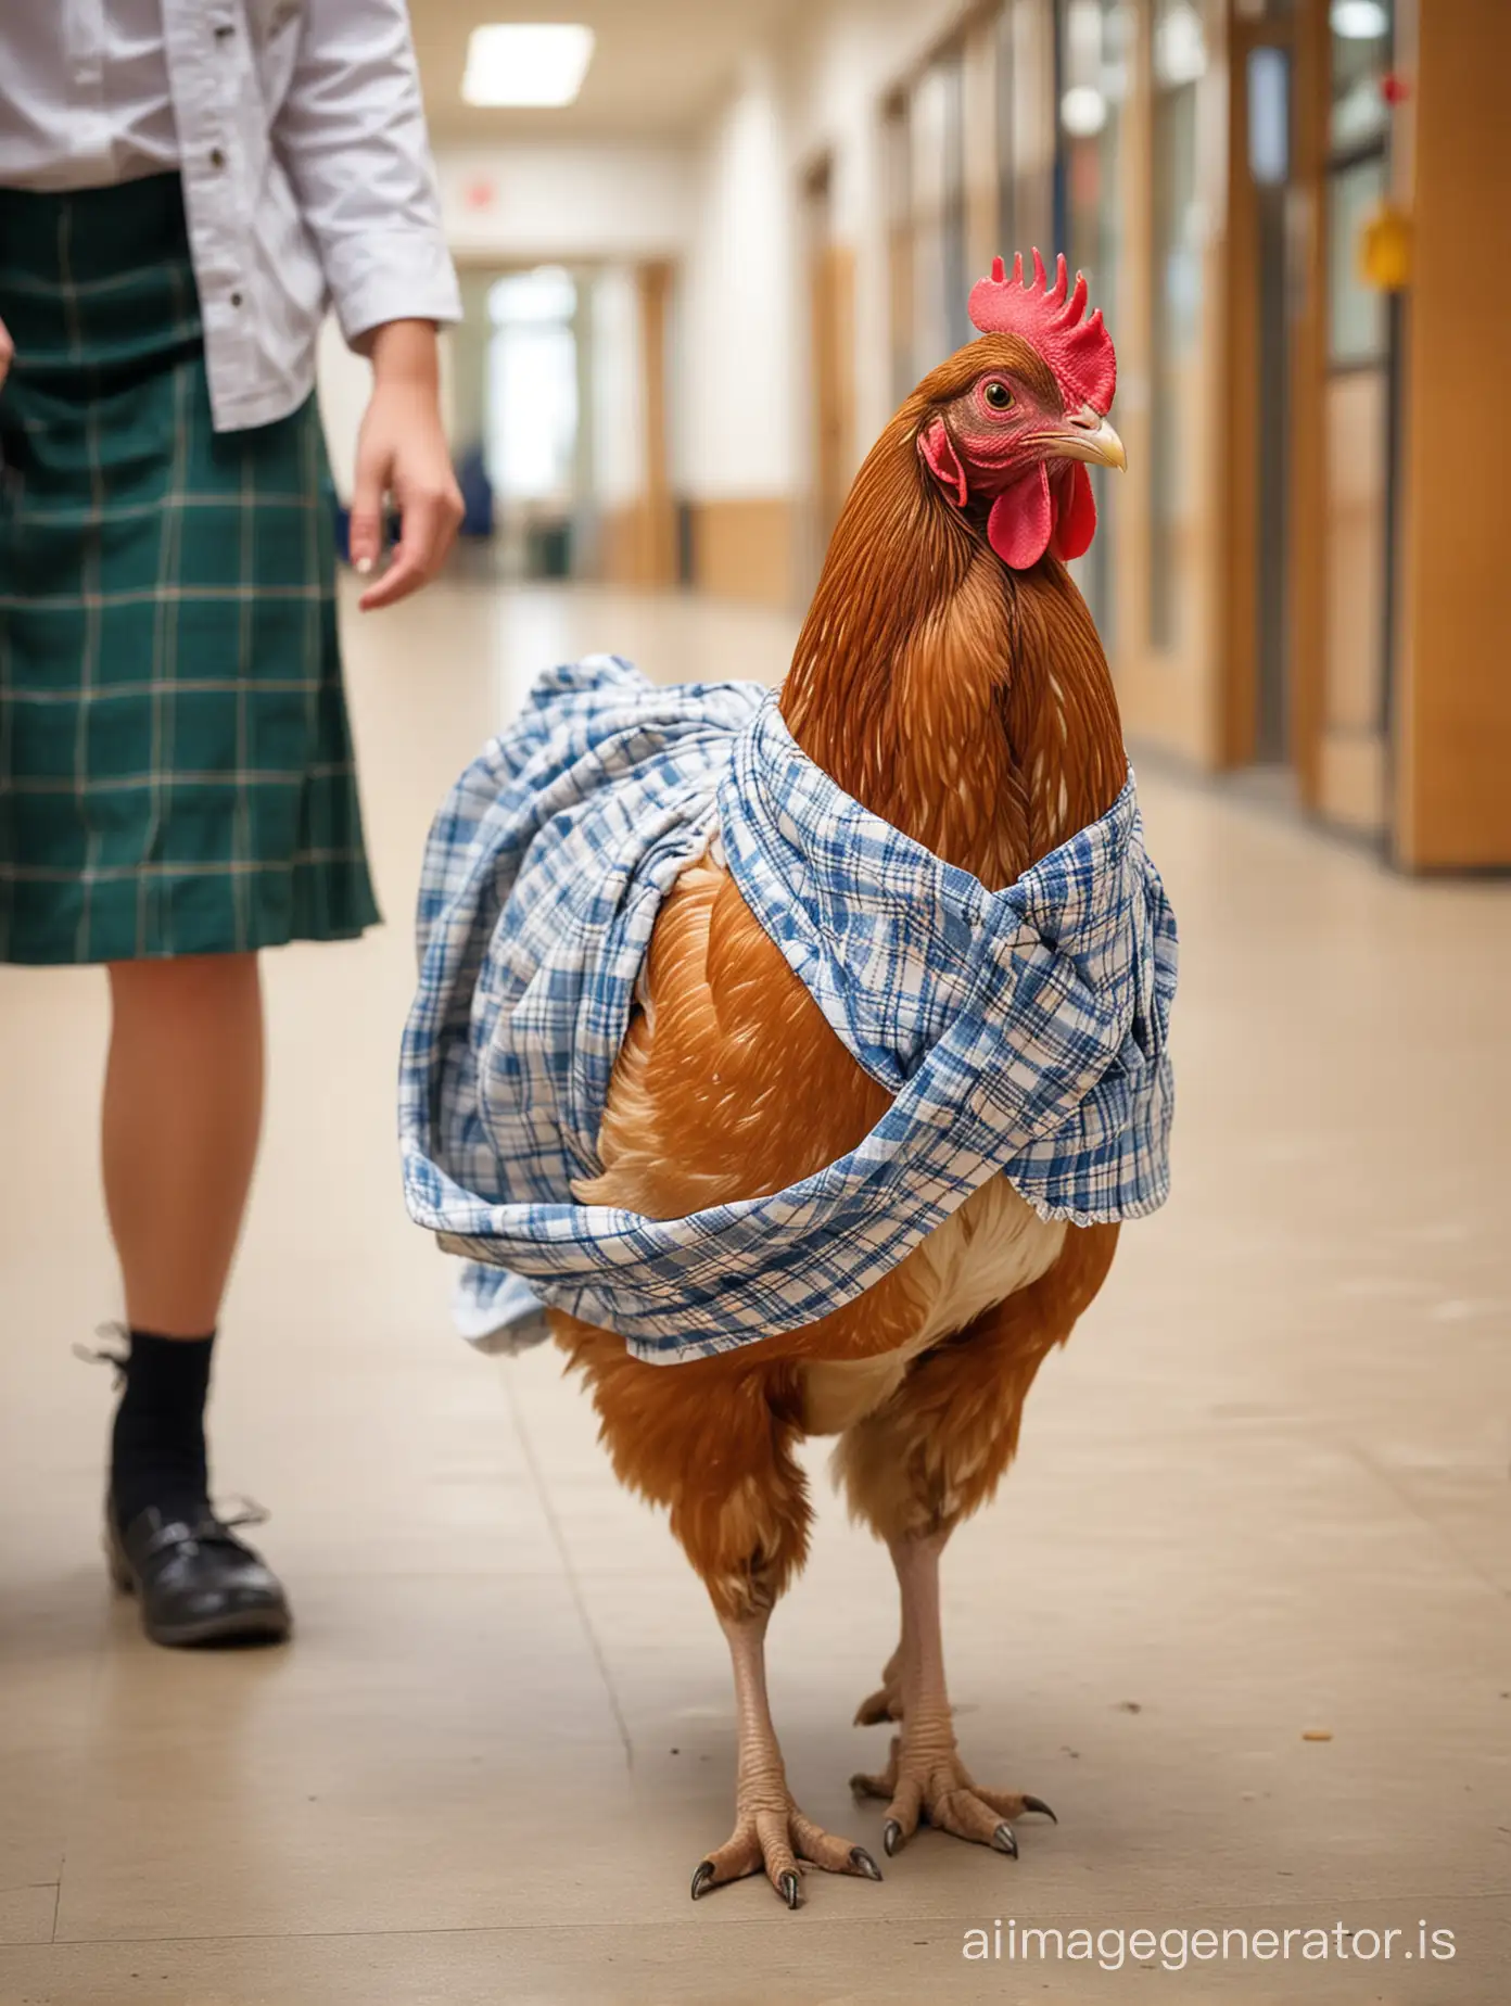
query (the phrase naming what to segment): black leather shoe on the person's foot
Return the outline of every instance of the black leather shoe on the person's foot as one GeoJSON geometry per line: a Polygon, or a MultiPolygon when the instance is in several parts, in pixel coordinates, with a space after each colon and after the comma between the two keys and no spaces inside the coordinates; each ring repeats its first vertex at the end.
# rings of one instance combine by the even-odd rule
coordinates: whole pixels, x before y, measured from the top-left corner
{"type": "Polygon", "coordinates": [[[205,1504],[197,1515],[148,1507],[116,1525],[104,1511],[110,1579],[140,1597],[153,1643],[283,1643],[293,1619],[279,1577],[205,1504]]]}

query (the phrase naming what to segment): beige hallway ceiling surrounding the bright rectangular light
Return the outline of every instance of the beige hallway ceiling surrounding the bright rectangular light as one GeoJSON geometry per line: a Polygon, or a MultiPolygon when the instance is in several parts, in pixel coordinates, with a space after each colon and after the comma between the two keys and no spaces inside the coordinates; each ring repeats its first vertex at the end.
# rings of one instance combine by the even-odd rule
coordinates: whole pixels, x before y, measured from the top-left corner
{"type": "Polygon", "coordinates": [[[431,136],[441,144],[680,138],[714,108],[742,50],[799,4],[803,0],[409,0],[431,136]],[[586,22],[598,46],[578,102],[564,110],[464,104],[468,34],[486,20],[586,22]]]}

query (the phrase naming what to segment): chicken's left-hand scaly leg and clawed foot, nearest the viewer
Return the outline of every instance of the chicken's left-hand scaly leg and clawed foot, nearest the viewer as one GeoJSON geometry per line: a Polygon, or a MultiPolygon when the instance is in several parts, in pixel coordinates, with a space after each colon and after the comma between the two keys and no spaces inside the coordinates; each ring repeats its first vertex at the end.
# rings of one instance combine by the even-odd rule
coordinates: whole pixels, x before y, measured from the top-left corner
{"type": "Polygon", "coordinates": [[[767,1623],[765,1609],[748,1617],[720,1617],[734,1665],[738,1719],[734,1833],[692,1876],[694,1902],[706,1888],[765,1872],[783,1902],[797,1908],[805,1866],[881,1880],[881,1868],[863,1846],[833,1837],[793,1803],[767,1699],[767,1623]]]}

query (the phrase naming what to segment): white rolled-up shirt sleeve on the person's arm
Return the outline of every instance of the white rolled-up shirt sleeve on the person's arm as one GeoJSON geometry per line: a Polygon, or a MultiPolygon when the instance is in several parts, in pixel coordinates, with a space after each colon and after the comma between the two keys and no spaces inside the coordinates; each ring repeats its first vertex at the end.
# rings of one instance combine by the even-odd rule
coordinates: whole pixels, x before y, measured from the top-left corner
{"type": "Polygon", "coordinates": [[[305,0],[273,146],[347,341],[462,319],[403,0],[305,0]]]}

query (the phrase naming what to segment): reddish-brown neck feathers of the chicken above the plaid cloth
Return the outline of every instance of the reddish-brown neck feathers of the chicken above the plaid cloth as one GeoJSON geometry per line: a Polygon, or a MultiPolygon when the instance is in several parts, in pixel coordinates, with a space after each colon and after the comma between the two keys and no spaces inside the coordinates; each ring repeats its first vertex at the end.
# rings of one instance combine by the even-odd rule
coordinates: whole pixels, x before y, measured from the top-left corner
{"type": "Polygon", "coordinates": [[[1064,566],[1005,570],[915,435],[905,405],[855,479],[781,710],[847,794],[999,889],[1118,796],[1118,700],[1064,566]]]}

